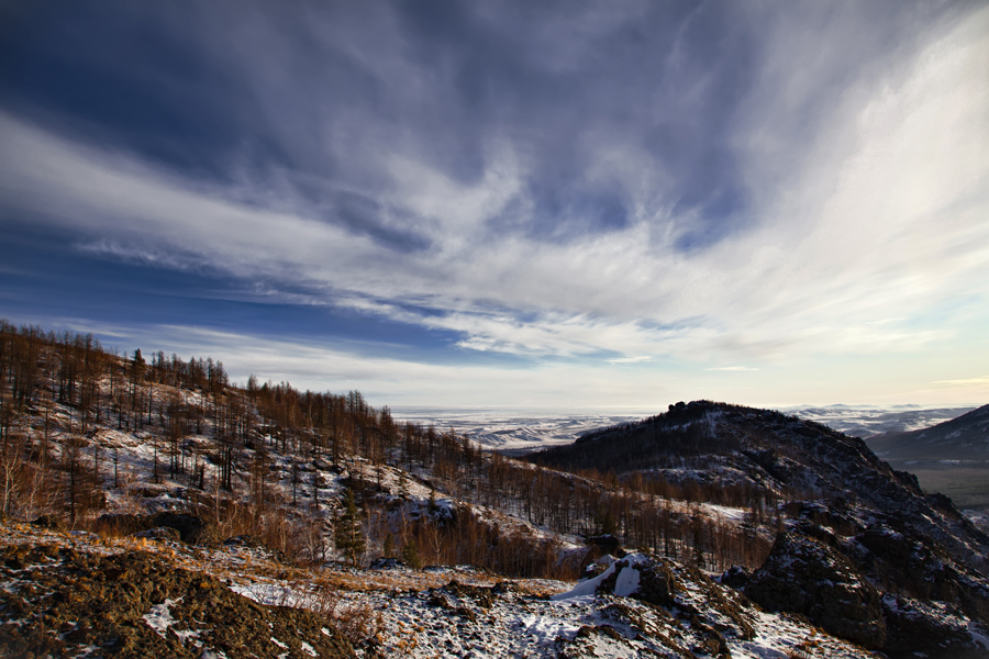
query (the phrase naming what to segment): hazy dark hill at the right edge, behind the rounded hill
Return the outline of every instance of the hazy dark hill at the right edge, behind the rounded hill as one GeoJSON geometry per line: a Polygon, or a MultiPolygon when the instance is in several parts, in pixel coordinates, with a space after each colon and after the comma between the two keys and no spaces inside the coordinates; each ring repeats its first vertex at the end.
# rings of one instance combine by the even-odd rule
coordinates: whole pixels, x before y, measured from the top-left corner
{"type": "Polygon", "coordinates": [[[901,460],[989,460],[989,405],[933,427],[867,439],[877,455],[901,460]]]}

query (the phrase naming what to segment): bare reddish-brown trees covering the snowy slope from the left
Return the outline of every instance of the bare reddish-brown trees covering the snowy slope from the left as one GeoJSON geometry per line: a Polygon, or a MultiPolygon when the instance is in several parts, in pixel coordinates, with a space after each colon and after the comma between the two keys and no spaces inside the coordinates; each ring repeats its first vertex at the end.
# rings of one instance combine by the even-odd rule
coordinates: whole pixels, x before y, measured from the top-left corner
{"type": "Polygon", "coordinates": [[[315,460],[352,473],[370,554],[411,547],[425,562],[467,562],[505,574],[560,577],[556,541],[505,530],[462,506],[396,525],[393,500],[378,496],[382,473],[503,511],[546,530],[611,534],[711,569],[758,565],[768,552],[760,525],[776,506],[747,495],[747,524],[712,520],[670,499],[718,500],[715,492],[593,468],[574,473],[478,449],[454,431],[397,421],[356,391],[301,392],[288,383],[230,382],[219,361],[140,350],[119,355],[92,335],[45,333],[0,321],[0,485],[2,512],[65,515],[69,524],[104,505],[107,488],[135,481],[184,483],[188,498],[231,535],[264,535],[311,560],[327,556],[325,483],[315,460]],[[59,442],[54,429],[60,428],[59,442]],[[100,428],[136,434],[151,446],[147,473],[121,473],[101,448],[100,428]],[[366,465],[366,467],[364,467],[366,465]],[[278,485],[278,487],[276,487],[278,485]],[[16,509],[16,510],[15,510],[16,509]],[[389,540],[390,537],[390,540],[389,540]]]}

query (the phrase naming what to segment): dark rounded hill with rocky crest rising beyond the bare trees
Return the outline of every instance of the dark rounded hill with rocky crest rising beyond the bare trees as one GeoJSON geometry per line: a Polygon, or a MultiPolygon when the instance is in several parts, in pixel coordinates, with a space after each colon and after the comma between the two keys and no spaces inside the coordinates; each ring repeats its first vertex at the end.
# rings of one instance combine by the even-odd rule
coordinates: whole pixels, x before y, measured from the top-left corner
{"type": "Polygon", "coordinates": [[[877,514],[900,515],[974,567],[987,566],[989,540],[949,501],[924,496],[912,474],[890,468],[862,439],[778,412],[678,403],[666,414],[591,433],[531,459],[562,469],[597,463],[722,496],[841,499],[877,514]]]}

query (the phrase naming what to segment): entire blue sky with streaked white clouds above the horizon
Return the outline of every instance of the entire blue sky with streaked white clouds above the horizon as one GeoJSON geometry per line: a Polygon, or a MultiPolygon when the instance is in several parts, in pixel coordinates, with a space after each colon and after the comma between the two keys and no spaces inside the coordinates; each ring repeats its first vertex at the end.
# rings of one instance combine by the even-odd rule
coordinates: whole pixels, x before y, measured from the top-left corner
{"type": "Polygon", "coordinates": [[[373,405],[989,402],[984,2],[0,2],[0,317],[373,405]]]}

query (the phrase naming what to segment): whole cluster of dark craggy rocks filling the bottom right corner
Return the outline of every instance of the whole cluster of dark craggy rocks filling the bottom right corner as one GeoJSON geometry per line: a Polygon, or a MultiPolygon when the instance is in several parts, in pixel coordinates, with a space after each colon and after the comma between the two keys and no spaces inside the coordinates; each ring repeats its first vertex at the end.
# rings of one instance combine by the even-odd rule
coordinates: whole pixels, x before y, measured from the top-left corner
{"type": "Polygon", "coordinates": [[[824,528],[798,527],[803,533],[777,536],[752,576],[734,571],[722,581],[769,611],[804,615],[825,632],[890,658],[989,657],[973,636],[974,622],[985,623],[981,582],[952,567],[947,556],[934,559],[923,543],[889,529],[841,544],[824,528]],[[877,566],[894,561],[910,570],[911,579],[887,582],[898,592],[884,594],[873,585],[879,581],[877,566]]]}

